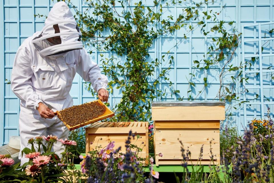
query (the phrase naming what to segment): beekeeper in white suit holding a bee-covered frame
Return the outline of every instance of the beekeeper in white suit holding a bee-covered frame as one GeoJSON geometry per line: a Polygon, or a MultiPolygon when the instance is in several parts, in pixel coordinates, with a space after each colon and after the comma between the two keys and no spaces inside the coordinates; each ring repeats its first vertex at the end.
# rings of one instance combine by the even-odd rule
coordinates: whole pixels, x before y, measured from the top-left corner
{"type": "MultiPolygon", "coordinates": [[[[53,112],[73,105],[69,91],[76,72],[92,84],[102,101],[108,100],[108,79],[90,60],[71,11],[60,1],[49,12],[43,29],[27,38],[15,56],[11,88],[21,100],[21,150],[30,147],[28,139],[36,136],[68,138],[68,129],[53,112]]],[[[57,142],[52,151],[60,155],[61,148],[57,142]]],[[[21,164],[27,161],[23,155],[21,164]]]]}

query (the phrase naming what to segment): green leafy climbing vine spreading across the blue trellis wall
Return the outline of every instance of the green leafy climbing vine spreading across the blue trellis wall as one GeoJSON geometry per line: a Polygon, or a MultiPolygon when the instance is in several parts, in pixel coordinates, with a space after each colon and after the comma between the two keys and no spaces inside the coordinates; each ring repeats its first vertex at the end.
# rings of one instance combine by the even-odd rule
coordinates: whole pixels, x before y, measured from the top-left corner
{"type": "MultiPolygon", "coordinates": [[[[153,6],[145,6],[142,2],[132,3],[127,0],[86,0],[86,9],[82,12],[67,0],[76,11],[75,19],[82,31],[82,40],[90,54],[94,52],[100,55],[103,72],[110,78],[109,90],[113,95],[122,96],[111,106],[116,112],[111,120],[113,121],[144,121],[151,120],[151,102],[156,98],[162,99],[166,96],[176,96],[178,100],[195,100],[203,93],[207,92],[208,71],[211,68],[219,68],[218,75],[219,91],[216,98],[231,104],[232,101],[239,101],[239,92],[236,89],[237,81],[242,81],[240,65],[233,65],[232,60],[236,55],[236,50],[240,45],[241,33],[237,33],[233,22],[224,22],[217,19],[220,12],[212,10],[202,11],[200,7],[207,6],[207,0],[194,3],[190,0],[182,1],[153,1],[153,6]],[[192,5],[190,6],[190,3],[192,5]],[[172,15],[163,18],[163,8],[184,4],[177,18],[172,15]],[[187,7],[186,7],[187,4],[187,7]],[[117,5],[119,8],[117,8],[117,5]],[[201,11],[201,12],[200,12],[201,11]],[[191,21],[197,24],[192,25],[191,21]],[[206,29],[207,21],[214,22],[214,26],[206,29]],[[224,25],[230,25],[230,31],[224,25]],[[162,35],[174,33],[179,29],[184,29],[182,39],[188,39],[188,34],[195,29],[200,29],[202,35],[207,36],[211,32],[217,32],[219,37],[207,38],[208,51],[204,59],[194,60],[194,68],[204,72],[204,87],[196,97],[192,96],[192,90],[196,87],[195,79],[197,75],[190,73],[188,78],[189,88],[187,97],[181,96],[180,91],[174,89],[172,81],[168,78],[168,73],[174,63],[174,56],[171,55],[168,61],[165,56],[180,44],[177,41],[174,47],[166,55],[161,55],[152,59],[149,50],[154,45],[154,41],[162,35]],[[169,66],[162,68],[162,64],[168,62],[169,66]],[[227,74],[233,73],[228,82],[227,74]],[[169,83],[169,90],[162,91],[159,87],[160,81],[169,83]],[[115,90],[114,90],[115,89],[115,90]],[[120,91],[117,93],[117,91],[120,91]]],[[[208,26],[208,25],[207,25],[208,26]]],[[[193,69],[194,70],[194,69],[193,69]]],[[[237,86],[239,87],[239,86],[237,86]]],[[[87,89],[94,94],[87,85],[87,89]]],[[[239,102],[240,103],[240,102],[239,102]]]]}

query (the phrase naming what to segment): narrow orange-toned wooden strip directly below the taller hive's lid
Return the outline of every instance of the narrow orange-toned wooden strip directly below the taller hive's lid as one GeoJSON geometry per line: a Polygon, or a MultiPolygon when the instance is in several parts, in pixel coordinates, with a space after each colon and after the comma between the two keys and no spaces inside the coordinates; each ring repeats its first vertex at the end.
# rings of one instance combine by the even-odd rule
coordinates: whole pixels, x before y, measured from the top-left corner
{"type": "Polygon", "coordinates": [[[155,128],[220,128],[220,121],[155,121],[155,128]]]}

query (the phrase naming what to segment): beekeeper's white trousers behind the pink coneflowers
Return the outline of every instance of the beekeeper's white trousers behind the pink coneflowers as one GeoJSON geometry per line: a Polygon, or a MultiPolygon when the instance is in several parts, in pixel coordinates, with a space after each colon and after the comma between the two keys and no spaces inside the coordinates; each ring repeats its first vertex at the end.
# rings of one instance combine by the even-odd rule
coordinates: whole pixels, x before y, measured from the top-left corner
{"type": "MultiPolygon", "coordinates": [[[[23,106],[20,106],[20,116],[19,116],[19,133],[21,139],[19,160],[21,160],[21,165],[25,162],[28,162],[29,159],[25,158],[25,154],[21,154],[21,151],[27,147],[31,149],[31,145],[28,145],[28,140],[30,138],[35,138],[37,136],[48,136],[55,135],[57,138],[68,138],[68,128],[61,122],[57,116],[52,119],[45,119],[40,117],[37,110],[27,109],[23,106]],[[30,113],[31,112],[31,113],[30,113]]],[[[36,148],[36,147],[35,147],[36,148]]],[[[41,147],[41,150],[43,148],[41,147]]],[[[37,151],[37,149],[36,149],[37,151]]],[[[61,142],[54,144],[51,149],[52,152],[55,152],[59,157],[60,153],[64,151],[64,148],[61,142]]]]}

